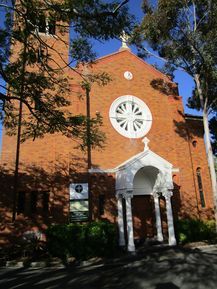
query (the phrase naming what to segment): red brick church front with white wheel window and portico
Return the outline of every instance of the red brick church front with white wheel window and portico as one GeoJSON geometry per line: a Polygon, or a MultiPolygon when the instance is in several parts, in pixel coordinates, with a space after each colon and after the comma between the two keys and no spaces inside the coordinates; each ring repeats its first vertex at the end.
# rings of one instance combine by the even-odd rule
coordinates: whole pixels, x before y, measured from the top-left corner
{"type": "MultiPolygon", "coordinates": [[[[66,48],[56,45],[68,57],[66,48]]],[[[4,133],[1,242],[43,232],[49,224],[106,219],[117,224],[119,244],[129,251],[145,239],[174,245],[178,218],[213,218],[202,118],[186,115],[177,84],[124,41],[89,69],[112,78],[103,87],[93,84],[90,92],[91,116],[103,117],[104,147],[91,150],[88,168],[87,153],[61,134],[22,143],[12,223],[16,137],[4,133]],[[159,79],[165,89],[158,89],[159,79]]],[[[85,114],[85,99],[77,97],[81,79],[68,73],[71,111],[85,114]]]]}

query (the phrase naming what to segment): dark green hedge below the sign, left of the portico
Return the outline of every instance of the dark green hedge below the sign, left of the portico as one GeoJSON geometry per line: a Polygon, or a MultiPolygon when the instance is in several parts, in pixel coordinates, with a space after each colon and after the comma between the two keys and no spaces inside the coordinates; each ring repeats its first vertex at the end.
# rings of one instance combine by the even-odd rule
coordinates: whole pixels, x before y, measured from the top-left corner
{"type": "Polygon", "coordinates": [[[105,221],[54,225],[47,229],[46,235],[49,252],[63,259],[110,257],[117,250],[116,227],[105,221]]]}

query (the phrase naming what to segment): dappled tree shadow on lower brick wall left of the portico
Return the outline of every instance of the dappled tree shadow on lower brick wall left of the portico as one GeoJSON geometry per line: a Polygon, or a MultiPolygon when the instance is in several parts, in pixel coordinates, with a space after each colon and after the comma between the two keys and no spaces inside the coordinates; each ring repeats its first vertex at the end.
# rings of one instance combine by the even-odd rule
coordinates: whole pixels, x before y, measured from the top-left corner
{"type": "MultiPolygon", "coordinates": [[[[7,166],[8,167],[8,166],[7,166]]],[[[20,164],[17,216],[12,223],[14,170],[0,168],[0,243],[16,243],[26,231],[44,231],[53,223],[69,222],[69,184],[90,183],[92,219],[116,222],[115,179],[112,175],[88,176],[86,160],[71,156],[45,166],[20,164]]]]}

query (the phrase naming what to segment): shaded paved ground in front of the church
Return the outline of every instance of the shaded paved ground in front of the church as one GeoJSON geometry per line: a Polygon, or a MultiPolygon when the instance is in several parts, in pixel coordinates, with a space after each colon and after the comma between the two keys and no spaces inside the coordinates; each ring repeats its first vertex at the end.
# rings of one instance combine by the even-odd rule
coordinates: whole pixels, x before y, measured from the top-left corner
{"type": "Polygon", "coordinates": [[[70,268],[1,268],[0,288],[217,289],[217,247],[144,251],[70,268]]]}

